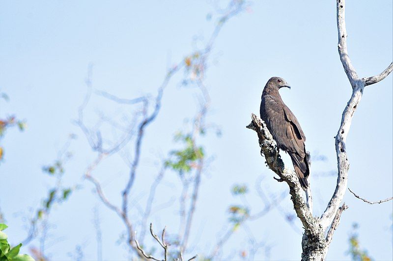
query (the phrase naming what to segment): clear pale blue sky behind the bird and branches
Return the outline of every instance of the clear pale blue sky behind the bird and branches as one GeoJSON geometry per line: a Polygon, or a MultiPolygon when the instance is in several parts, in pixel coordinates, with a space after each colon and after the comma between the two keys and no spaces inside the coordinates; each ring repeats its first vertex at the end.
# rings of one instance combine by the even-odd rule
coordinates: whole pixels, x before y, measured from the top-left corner
{"type": "MultiPolygon", "coordinates": [[[[23,216],[41,204],[54,183],[42,173],[42,166],[53,162],[68,135],[75,133],[79,138],[71,145],[74,158],[66,165],[64,183],[78,183],[82,189],[53,211],[47,254],[53,260],[71,259],[67,253],[81,245],[84,259],[96,259],[92,209],[97,207],[103,258],[127,258],[124,246],[116,244],[122,224],[82,179],[94,154],[73,120],[84,98],[87,67],[93,64],[98,90],[125,98],[154,95],[168,64],[182,61],[194,49],[195,36],[206,41],[211,34],[217,18],[206,19],[214,14],[211,2],[0,1],[0,88],[10,97],[9,102],[1,101],[0,117],[15,114],[28,122],[24,133],[10,130],[1,144],[5,159],[0,165],[0,207],[12,242],[24,239],[27,223],[23,216]]],[[[347,1],[348,49],[361,77],[380,73],[392,62],[392,8],[390,0],[347,1]]],[[[132,195],[141,204],[157,163],[174,146],[173,134],[184,129],[184,119],[197,108],[196,92],[180,86],[181,76],[182,72],[169,83],[162,112],[146,132],[141,172],[132,195]]],[[[250,114],[258,113],[262,89],[271,76],[281,76],[291,84],[292,89],[281,90],[281,96],[302,124],[307,149],[327,158],[311,166],[315,214],[322,213],[334,191],[336,178],[323,173],[337,170],[333,137],[351,95],[337,53],[336,1],[254,1],[250,10],[225,25],[209,60],[206,84],[212,106],[207,120],[221,127],[222,136],[210,134],[203,140],[207,155],[214,160],[202,177],[190,241],[197,245],[195,253],[208,252],[221,235],[227,208],[237,202],[230,194],[233,184],[250,187],[252,212],[263,207],[254,189],[258,177],[264,177],[262,186],[272,193],[286,190],[264,165],[255,133],[245,128],[250,114]]],[[[390,75],[365,88],[347,140],[349,188],[369,200],[393,193],[392,79],[390,75]]],[[[98,110],[114,115],[120,110],[116,106],[95,97],[86,119],[93,122],[98,110]]],[[[126,107],[121,110],[127,112],[126,107]]],[[[127,173],[120,157],[97,171],[115,202],[127,173]]],[[[157,205],[170,200],[173,193],[168,190],[180,193],[176,182],[175,173],[165,177],[157,205]]],[[[369,254],[375,260],[392,260],[392,202],[367,205],[349,192],[344,200],[349,209],[342,215],[328,259],[349,259],[348,236],[357,222],[360,242],[369,254]]],[[[151,221],[157,229],[177,228],[176,204],[153,214],[151,221]]],[[[289,197],[281,208],[294,213],[289,197]]],[[[132,215],[138,212],[133,210],[132,215]]],[[[301,234],[278,210],[248,226],[258,242],[271,245],[271,260],[300,258],[301,234]]],[[[297,220],[296,226],[300,227],[297,220]]],[[[248,248],[246,234],[242,229],[236,232],[224,248],[225,256],[236,249],[233,258],[239,259],[238,250],[248,248]]],[[[259,251],[255,260],[265,257],[259,251]]]]}

